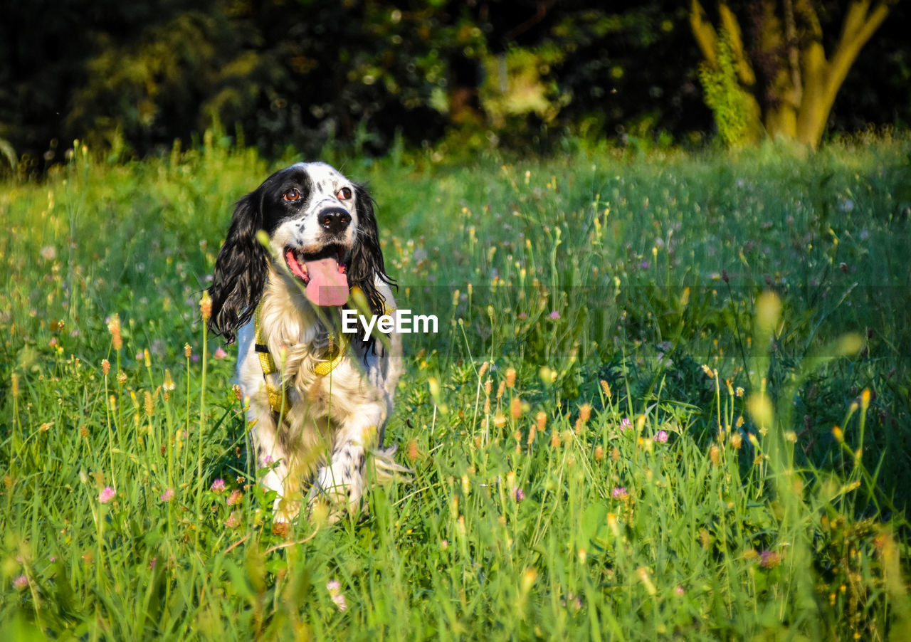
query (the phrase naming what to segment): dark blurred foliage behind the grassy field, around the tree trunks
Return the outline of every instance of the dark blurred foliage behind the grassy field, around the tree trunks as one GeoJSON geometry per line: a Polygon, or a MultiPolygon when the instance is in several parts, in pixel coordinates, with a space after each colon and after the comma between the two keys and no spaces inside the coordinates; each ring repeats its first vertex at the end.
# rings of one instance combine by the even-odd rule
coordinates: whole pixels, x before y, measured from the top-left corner
{"type": "MultiPolygon", "coordinates": [[[[817,5],[837,32],[844,6],[817,5]]],[[[891,7],[829,136],[911,121],[909,18],[891,7]]],[[[269,156],[698,146],[715,127],[682,0],[34,0],[5,4],[0,47],[0,153],[28,174],[74,138],[117,159],[209,127],[269,156]]]]}

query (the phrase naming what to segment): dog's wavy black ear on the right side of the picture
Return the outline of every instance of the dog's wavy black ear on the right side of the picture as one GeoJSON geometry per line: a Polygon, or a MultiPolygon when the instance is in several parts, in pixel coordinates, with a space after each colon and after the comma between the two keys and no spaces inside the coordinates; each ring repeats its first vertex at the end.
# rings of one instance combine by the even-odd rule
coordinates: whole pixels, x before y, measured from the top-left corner
{"type": "MultiPolygon", "coordinates": [[[[384,314],[385,300],[376,289],[376,280],[389,285],[395,285],[395,281],[386,274],[383,250],[380,250],[380,231],[374,215],[374,199],[363,185],[355,185],[354,190],[357,194],[357,238],[348,266],[348,282],[363,291],[374,314],[384,314]]],[[[374,340],[368,343],[368,347],[372,348],[374,340]]]]}

